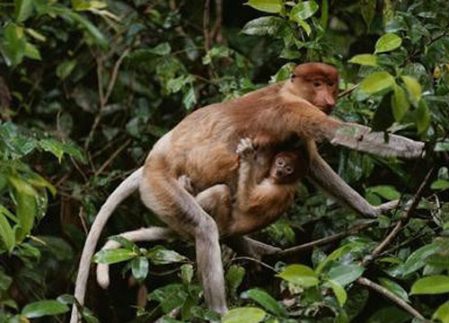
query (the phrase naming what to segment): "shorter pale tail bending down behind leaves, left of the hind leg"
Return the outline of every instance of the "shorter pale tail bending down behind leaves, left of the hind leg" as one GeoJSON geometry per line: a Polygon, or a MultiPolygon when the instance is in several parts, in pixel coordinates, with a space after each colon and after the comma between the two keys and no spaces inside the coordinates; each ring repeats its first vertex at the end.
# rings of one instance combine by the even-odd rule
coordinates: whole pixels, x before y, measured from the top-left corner
{"type": "MultiPolygon", "coordinates": [[[[170,228],[141,228],[135,231],[128,231],[120,234],[121,237],[130,241],[155,241],[168,240],[178,237],[175,231],[170,228]]],[[[109,240],[105,243],[101,250],[117,249],[121,244],[114,240],[109,240]]],[[[110,266],[107,264],[97,265],[97,283],[101,288],[106,289],[110,285],[110,266]]]]}

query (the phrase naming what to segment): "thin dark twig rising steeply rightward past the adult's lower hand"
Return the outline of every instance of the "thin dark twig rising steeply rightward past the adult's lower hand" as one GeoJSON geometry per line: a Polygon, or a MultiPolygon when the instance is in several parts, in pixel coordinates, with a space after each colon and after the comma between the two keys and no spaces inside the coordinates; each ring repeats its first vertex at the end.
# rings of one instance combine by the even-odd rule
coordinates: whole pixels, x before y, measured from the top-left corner
{"type": "Polygon", "coordinates": [[[367,262],[369,262],[371,259],[376,258],[383,249],[385,249],[386,246],[388,246],[392,240],[396,237],[396,235],[401,231],[402,226],[409,221],[409,218],[411,214],[415,211],[416,207],[418,206],[419,201],[421,200],[421,197],[424,193],[424,188],[427,186],[427,182],[430,179],[430,176],[434,172],[435,167],[432,167],[429,171],[427,171],[426,177],[421,182],[421,185],[419,186],[417,192],[413,196],[411,205],[407,209],[407,211],[402,214],[401,219],[394,225],[394,228],[392,231],[385,237],[385,239],[373,250],[370,258],[364,259],[364,266],[367,265],[367,262]]]}

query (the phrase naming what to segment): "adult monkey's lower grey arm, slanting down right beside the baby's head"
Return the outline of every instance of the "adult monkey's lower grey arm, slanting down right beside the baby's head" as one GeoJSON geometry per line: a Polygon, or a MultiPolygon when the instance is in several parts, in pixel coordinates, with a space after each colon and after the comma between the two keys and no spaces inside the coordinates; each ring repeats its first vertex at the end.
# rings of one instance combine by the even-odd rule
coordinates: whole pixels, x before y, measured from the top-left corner
{"type": "Polygon", "coordinates": [[[357,212],[368,216],[377,216],[383,211],[388,211],[396,205],[398,201],[392,201],[379,206],[370,205],[364,197],[360,196],[353,188],[339,177],[339,175],[324,162],[318,153],[313,153],[310,176],[313,182],[334,196],[340,202],[350,206],[357,212]]]}

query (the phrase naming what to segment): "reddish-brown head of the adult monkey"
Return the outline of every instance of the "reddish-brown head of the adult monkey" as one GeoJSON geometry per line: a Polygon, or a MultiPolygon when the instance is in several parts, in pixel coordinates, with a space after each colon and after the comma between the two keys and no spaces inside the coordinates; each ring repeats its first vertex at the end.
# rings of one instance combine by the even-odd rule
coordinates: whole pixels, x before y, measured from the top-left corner
{"type": "Polygon", "coordinates": [[[290,80],[295,92],[326,114],[330,114],[339,93],[339,73],[333,66],[321,63],[298,65],[290,80]]]}

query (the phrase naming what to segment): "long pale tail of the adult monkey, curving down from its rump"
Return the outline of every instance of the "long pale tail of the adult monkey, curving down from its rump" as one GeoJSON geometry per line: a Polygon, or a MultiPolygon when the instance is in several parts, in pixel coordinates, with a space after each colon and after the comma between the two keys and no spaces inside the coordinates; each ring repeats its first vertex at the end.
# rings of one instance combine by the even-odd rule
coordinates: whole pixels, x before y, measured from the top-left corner
{"type": "MultiPolygon", "coordinates": [[[[143,167],[139,168],[129,175],[127,179],[121,182],[119,187],[112,192],[106,202],[101,206],[100,212],[97,214],[95,221],[93,221],[91,230],[84,243],[84,249],[81,255],[80,266],[78,267],[78,275],[76,276],[75,283],[75,299],[81,305],[84,305],[87,279],[89,278],[89,267],[91,266],[93,253],[95,252],[95,247],[97,246],[101,231],[117,206],[139,187],[140,179],[142,179],[143,176],[143,170],[143,167]]],[[[78,310],[74,304],[72,307],[70,323],[78,323],[78,321],[78,310]]]]}

